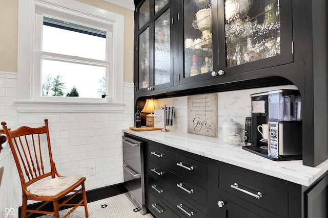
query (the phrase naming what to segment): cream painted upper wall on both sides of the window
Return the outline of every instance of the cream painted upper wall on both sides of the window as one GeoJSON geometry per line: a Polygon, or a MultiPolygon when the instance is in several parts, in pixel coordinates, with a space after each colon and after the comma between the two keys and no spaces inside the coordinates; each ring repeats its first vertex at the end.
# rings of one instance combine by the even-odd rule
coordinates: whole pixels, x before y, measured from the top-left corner
{"type": "MultiPolygon", "coordinates": [[[[76,1],[124,15],[124,82],[133,83],[134,12],[103,0],[76,1]]],[[[0,71],[17,72],[17,20],[18,0],[0,0],[0,71]]]]}

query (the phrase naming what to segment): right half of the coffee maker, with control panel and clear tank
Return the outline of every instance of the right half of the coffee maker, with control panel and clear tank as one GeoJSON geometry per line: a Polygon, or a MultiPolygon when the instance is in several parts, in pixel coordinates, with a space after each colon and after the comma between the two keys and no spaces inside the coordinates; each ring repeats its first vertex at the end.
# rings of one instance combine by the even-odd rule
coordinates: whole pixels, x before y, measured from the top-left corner
{"type": "Polygon", "coordinates": [[[269,91],[268,154],[302,154],[301,95],[298,90],[269,91]]]}

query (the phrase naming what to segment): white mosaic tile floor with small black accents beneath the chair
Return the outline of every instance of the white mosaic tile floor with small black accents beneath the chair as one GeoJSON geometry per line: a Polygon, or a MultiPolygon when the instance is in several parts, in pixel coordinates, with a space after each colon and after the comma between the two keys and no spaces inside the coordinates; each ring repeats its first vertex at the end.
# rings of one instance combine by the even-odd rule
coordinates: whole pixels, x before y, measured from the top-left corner
{"type": "MultiPolygon", "coordinates": [[[[153,218],[150,213],[142,215],[140,212],[133,212],[133,208],[135,206],[125,194],[88,203],[89,218],[153,218]]],[[[63,217],[69,210],[61,210],[59,216],[63,217]]],[[[78,207],[68,218],[83,218],[85,215],[84,207],[78,207]]],[[[53,218],[53,215],[39,217],[53,218]]]]}

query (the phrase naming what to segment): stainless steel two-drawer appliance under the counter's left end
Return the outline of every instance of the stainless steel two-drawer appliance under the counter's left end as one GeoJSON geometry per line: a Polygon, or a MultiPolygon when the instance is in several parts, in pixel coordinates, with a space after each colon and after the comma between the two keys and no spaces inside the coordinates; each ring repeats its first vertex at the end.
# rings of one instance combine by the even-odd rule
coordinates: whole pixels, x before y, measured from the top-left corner
{"type": "Polygon", "coordinates": [[[127,136],[122,136],[124,186],[126,195],[136,206],[135,212],[147,212],[145,205],[144,158],[142,156],[142,142],[127,136]]]}

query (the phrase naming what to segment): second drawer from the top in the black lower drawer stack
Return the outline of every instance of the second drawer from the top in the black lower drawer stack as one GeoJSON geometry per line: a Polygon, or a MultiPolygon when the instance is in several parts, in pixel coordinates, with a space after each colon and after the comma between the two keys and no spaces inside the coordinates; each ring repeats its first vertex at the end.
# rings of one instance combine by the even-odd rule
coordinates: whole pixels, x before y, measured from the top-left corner
{"type": "Polygon", "coordinates": [[[170,200],[167,199],[170,198],[170,196],[187,196],[192,201],[196,201],[203,206],[207,205],[206,189],[193,183],[189,179],[179,177],[178,175],[168,171],[166,168],[163,168],[152,161],[149,161],[148,164],[150,168],[150,175],[148,176],[150,181],[149,185],[156,185],[158,183],[161,188],[164,188],[163,191],[160,191],[161,193],[159,193],[159,195],[163,198],[166,198],[166,200],[170,202],[170,200]]]}

